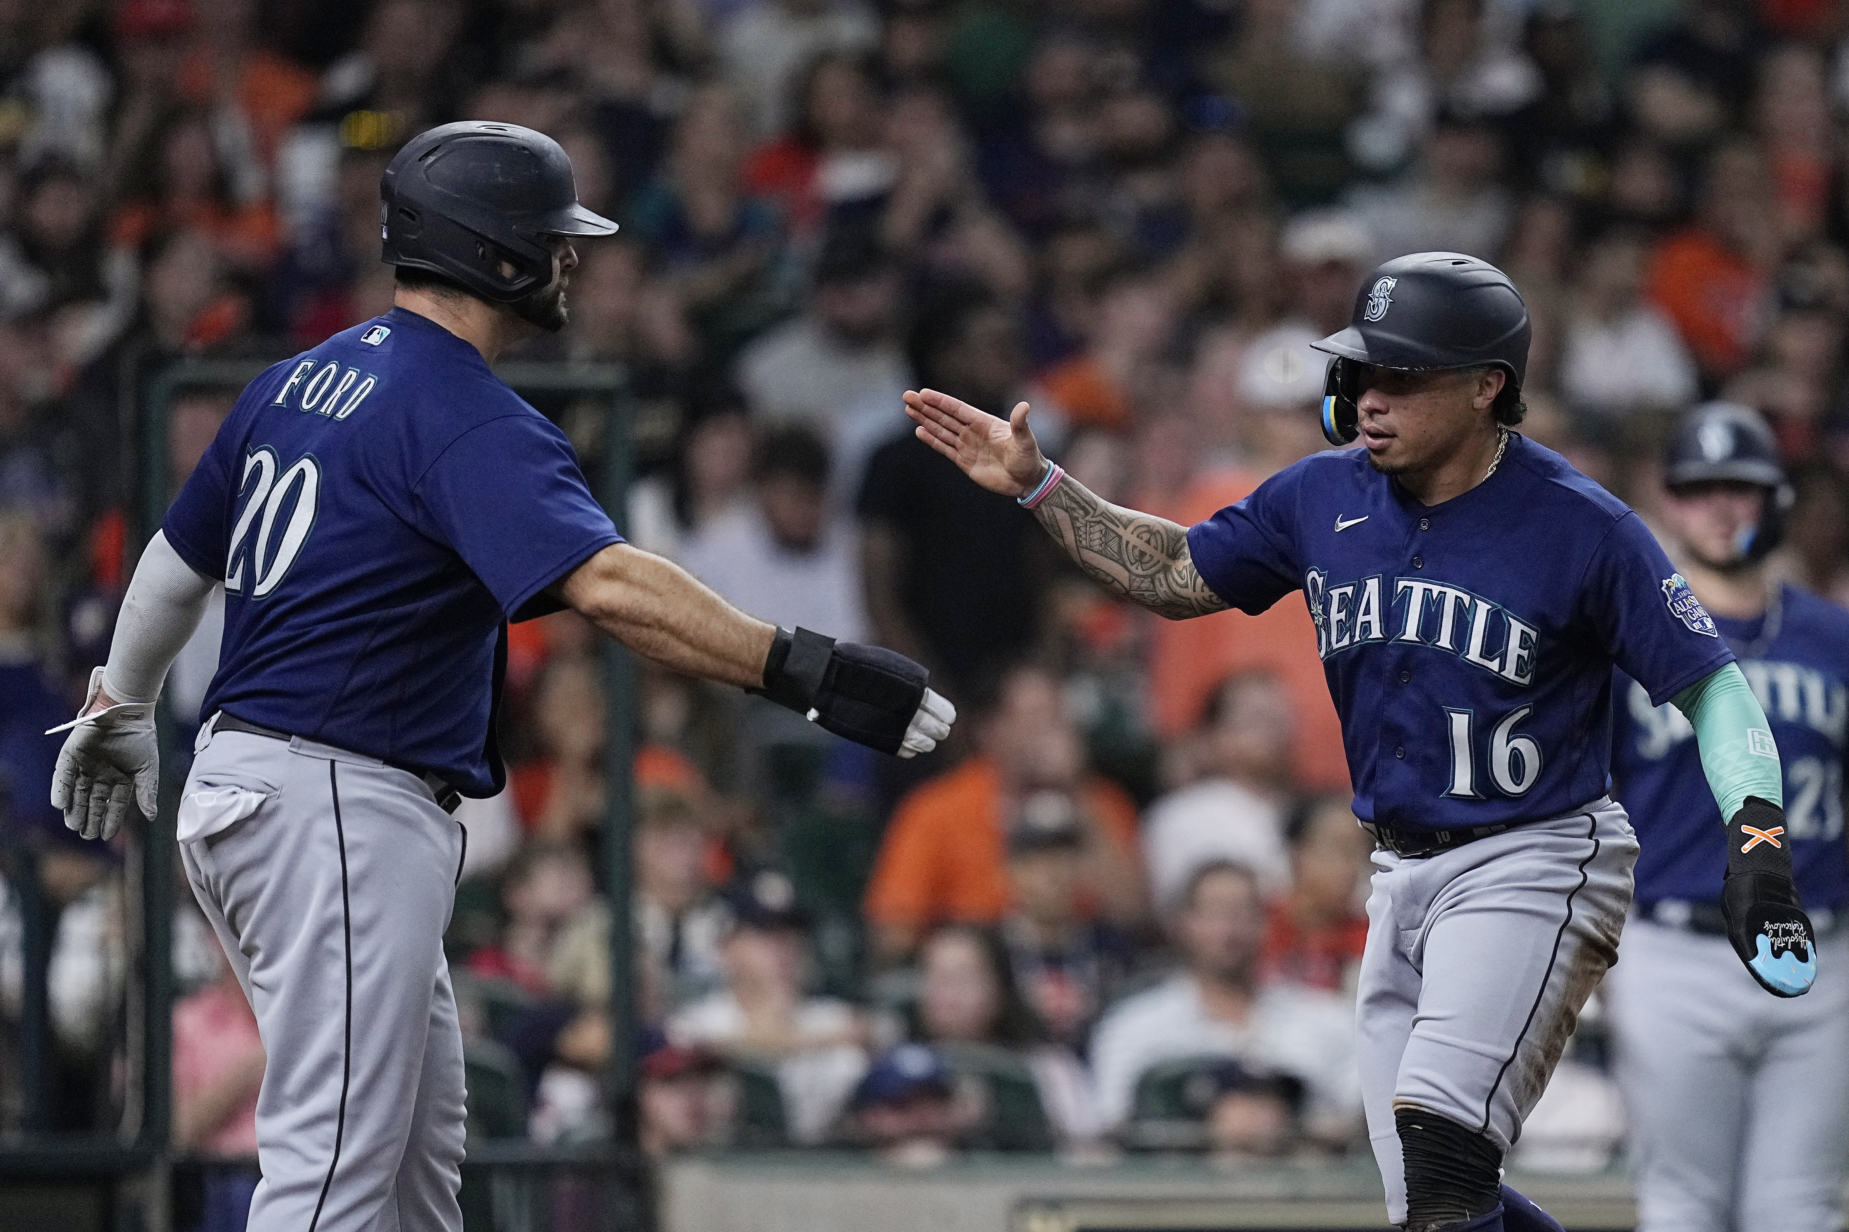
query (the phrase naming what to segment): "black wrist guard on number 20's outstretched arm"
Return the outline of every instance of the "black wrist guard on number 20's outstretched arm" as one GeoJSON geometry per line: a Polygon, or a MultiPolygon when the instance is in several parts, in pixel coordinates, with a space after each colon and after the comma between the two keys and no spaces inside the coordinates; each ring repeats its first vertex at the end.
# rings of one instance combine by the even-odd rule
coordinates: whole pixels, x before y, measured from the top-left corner
{"type": "Polygon", "coordinates": [[[895,650],[778,628],[758,693],[825,731],[897,754],[928,680],[930,672],[895,650]]]}

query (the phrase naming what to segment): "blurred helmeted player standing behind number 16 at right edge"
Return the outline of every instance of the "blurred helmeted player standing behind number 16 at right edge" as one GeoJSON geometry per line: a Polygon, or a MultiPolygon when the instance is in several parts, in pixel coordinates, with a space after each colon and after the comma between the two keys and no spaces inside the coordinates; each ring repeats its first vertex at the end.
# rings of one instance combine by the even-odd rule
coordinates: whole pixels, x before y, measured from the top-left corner
{"type": "Polygon", "coordinates": [[[1636,824],[1636,905],[1607,983],[1631,1112],[1640,1232],[1836,1232],[1849,1166],[1849,611],[1781,584],[1766,552],[1792,501],[1757,412],[1710,403],[1664,456],[1664,547],[1758,696],[1784,767],[1784,831],[1831,975],[1771,1001],[1729,957],[1727,868],[1688,720],[1614,680],[1612,778],[1636,824]]]}

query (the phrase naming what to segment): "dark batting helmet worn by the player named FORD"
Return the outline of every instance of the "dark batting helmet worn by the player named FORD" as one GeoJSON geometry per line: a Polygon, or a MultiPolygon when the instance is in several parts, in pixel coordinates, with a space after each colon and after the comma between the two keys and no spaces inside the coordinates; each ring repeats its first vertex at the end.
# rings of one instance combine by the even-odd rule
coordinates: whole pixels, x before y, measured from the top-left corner
{"type": "Polygon", "coordinates": [[[518,124],[464,120],[418,133],[379,181],[388,266],[429,270],[490,303],[553,279],[549,235],[610,235],[616,223],[577,201],[571,159],[518,124]]]}

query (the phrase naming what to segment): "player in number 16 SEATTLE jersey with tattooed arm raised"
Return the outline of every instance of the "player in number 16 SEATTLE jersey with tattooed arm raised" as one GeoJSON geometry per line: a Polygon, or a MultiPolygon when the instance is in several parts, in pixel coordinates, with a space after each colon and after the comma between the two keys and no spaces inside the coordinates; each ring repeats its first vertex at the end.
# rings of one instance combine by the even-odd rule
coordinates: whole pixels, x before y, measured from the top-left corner
{"type": "Polygon", "coordinates": [[[1501,1186],[1586,996],[1616,957],[1636,839],[1605,792],[1610,672],[1688,715],[1729,818],[1729,931],[1755,977],[1816,973],[1779,754],[1712,619],[1644,523],[1522,419],[1529,321],[1494,266],[1414,253],[1316,344],[1335,445],[1193,526],[1106,504],[1008,419],[906,393],[917,436],[1013,493],[1093,578],[1165,617],[1302,591],[1378,852],[1361,1086],[1389,1217],[1559,1228],[1501,1186]]]}

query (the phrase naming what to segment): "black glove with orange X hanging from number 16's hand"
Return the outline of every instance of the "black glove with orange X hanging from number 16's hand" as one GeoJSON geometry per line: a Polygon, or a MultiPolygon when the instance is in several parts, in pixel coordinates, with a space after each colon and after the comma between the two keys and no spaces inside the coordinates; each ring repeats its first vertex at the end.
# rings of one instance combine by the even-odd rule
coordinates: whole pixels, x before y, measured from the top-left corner
{"type": "Polygon", "coordinates": [[[1727,881],[1721,887],[1727,940],[1775,997],[1801,997],[1818,979],[1818,936],[1797,901],[1784,809],[1758,796],[1727,822],[1727,881]]]}

